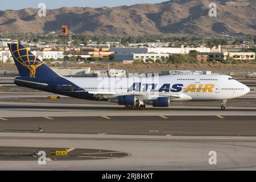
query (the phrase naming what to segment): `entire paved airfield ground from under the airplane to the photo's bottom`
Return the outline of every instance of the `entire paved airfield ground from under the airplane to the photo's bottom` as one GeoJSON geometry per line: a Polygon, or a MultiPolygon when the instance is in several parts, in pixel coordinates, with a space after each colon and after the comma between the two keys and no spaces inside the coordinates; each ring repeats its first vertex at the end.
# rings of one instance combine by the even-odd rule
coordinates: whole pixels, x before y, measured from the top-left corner
{"type": "Polygon", "coordinates": [[[0,170],[256,169],[254,91],[229,100],[225,111],[220,110],[221,101],[174,102],[170,108],[135,111],[109,102],[48,100],[52,94],[24,91],[0,96],[0,170]],[[69,159],[50,157],[42,166],[31,156],[1,158],[6,151],[30,155],[58,148],[77,151],[69,159]],[[77,159],[88,151],[126,156],[77,159]],[[217,165],[209,164],[210,151],[216,151],[217,165]]]}

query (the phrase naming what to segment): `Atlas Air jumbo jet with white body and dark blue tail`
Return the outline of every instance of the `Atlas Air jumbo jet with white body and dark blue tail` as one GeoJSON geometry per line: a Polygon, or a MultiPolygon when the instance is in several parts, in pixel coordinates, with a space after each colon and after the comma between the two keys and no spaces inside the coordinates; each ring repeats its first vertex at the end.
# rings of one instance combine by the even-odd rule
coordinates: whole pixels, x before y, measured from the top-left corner
{"type": "Polygon", "coordinates": [[[110,101],[124,109],[146,105],[170,107],[171,102],[223,101],[244,96],[250,88],[226,75],[166,75],[150,77],[64,77],[20,43],[8,44],[19,76],[18,86],[93,101],[110,101]]]}

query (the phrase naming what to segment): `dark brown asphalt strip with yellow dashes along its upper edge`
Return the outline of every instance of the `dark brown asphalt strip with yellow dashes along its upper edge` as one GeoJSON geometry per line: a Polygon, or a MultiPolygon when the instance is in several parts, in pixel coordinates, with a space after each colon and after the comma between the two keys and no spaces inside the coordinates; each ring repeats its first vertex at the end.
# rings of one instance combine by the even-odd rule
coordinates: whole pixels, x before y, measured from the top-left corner
{"type": "Polygon", "coordinates": [[[0,132],[256,136],[255,115],[2,118],[0,132]]]}

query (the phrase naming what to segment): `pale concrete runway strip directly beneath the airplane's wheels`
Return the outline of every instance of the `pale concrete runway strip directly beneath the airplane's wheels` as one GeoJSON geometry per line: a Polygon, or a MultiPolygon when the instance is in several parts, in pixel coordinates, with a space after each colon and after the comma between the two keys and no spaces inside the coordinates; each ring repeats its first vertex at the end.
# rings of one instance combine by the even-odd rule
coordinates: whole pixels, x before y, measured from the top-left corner
{"type": "MultiPolygon", "coordinates": [[[[36,100],[35,100],[36,101],[36,100]]],[[[86,101],[84,101],[86,102],[86,101]]],[[[53,104],[27,102],[0,102],[1,117],[88,117],[88,116],[147,116],[147,115],[255,115],[256,107],[253,102],[228,105],[225,111],[220,106],[206,106],[208,103],[198,103],[201,106],[177,106],[170,108],[153,108],[145,110],[124,110],[123,106],[109,102],[94,102],[94,104],[53,104]],[[238,106],[242,105],[242,106],[238,106]]],[[[193,103],[191,103],[193,104],[193,103]]],[[[196,103],[195,103],[196,105],[196,103]]],[[[210,104],[209,104],[210,105],[210,104]]]]}

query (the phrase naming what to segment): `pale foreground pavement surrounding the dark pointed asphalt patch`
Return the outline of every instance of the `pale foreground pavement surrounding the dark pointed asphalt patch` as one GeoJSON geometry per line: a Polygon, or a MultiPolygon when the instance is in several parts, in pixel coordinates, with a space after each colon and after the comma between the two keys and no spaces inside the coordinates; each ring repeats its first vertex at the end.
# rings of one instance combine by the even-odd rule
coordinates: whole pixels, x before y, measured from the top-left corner
{"type": "MultiPolygon", "coordinates": [[[[255,170],[256,137],[0,133],[1,146],[125,151],[101,160],[1,161],[0,170],[255,170]],[[210,151],[217,164],[210,165],[210,151]]],[[[31,151],[31,150],[30,150],[31,151]]]]}

